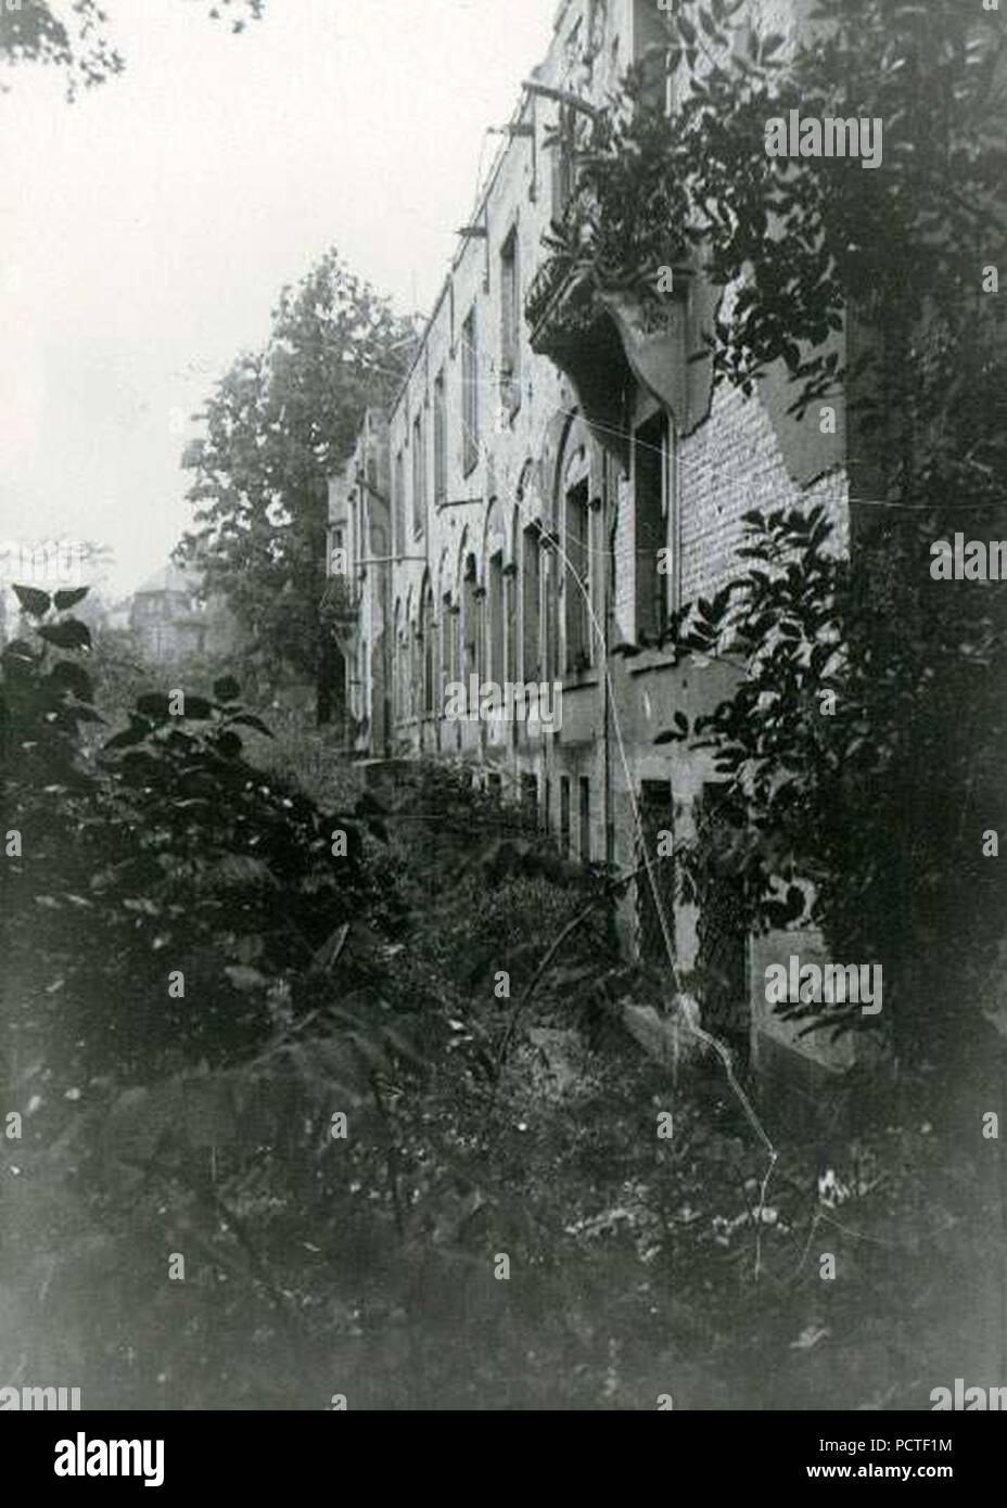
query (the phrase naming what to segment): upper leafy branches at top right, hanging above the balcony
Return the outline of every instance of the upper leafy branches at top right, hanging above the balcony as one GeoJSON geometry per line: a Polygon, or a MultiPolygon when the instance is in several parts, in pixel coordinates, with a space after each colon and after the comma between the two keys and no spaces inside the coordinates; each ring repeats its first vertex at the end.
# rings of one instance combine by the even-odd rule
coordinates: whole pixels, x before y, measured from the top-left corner
{"type": "MultiPolygon", "coordinates": [[[[657,267],[687,256],[734,294],[706,332],[715,382],[752,392],[779,360],[799,413],[840,389],[846,365],[823,347],[853,311],[885,330],[883,351],[865,353],[856,375],[873,368],[885,401],[912,409],[912,333],[935,309],[968,312],[945,351],[948,365],[968,357],[981,270],[1004,246],[999,17],[965,18],[957,0],[817,0],[787,47],[743,27],[743,14],[740,0],[681,0],[668,15],[675,110],[666,116],[635,69],[617,109],[594,119],[574,152],[576,193],[553,228],[559,270],[653,299],[657,267]],[[766,122],[791,109],[880,119],[882,169],[767,155],[766,122]]],[[[983,305],[986,323],[993,305],[983,305]]]]}

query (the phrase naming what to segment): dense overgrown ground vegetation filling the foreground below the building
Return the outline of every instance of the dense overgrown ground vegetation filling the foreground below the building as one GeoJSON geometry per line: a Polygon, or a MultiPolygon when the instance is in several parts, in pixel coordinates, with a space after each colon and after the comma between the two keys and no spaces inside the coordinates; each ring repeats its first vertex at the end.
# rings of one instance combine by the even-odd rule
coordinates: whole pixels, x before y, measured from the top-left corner
{"type": "Polygon", "coordinates": [[[998,1184],[923,1081],[855,1134],[841,1101],[807,1140],[766,1105],[763,1199],[716,1066],[672,1093],[618,1030],[648,986],[605,873],[463,766],[323,817],[246,762],[235,740],[270,740],[228,683],[184,716],[145,692],[90,754],[75,596],[23,590],[38,642],[0,661],[5,1384],[68,1377],[87,1407],[921,1407],[975,1365],[998,1184]]]}

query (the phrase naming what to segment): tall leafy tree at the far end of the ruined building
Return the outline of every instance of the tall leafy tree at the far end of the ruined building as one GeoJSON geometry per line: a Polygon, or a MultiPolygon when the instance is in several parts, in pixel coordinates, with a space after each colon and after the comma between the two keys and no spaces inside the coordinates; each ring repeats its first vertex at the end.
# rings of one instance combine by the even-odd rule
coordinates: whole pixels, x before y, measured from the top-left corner
{"type": "Polygon", "coordinates": [[[182,458],[196,528],[179,564],[199,561],[267,664],[315,680],[320,721],[330,689],[320,617],[327,478],[351,454],[365,409],[390,397],[413,335],[327,250],[283,288],[265,350],[234,362],[202,413],[205,436],[182,458]]]}

